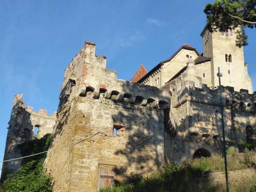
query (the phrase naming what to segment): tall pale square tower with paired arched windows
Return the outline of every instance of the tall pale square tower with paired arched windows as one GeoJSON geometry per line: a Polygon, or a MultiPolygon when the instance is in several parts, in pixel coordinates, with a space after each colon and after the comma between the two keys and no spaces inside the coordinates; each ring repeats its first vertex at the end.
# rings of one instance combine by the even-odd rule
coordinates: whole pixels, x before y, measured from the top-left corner
{"type": "Polygon", "coordinates": [[[211,33],[206,25],[200,35],[203,39],[203,56],[212,58],[211,87],[216,88],[219,85],[216,74],[220,67],[223,73],[221,78],[223,86],[234,87],[235,91],[247,89],[252,93],[252,80],[248,75],[247,64],[244,62],[244,50],[243,47],[236,46],[235,30],[211,33]]]}

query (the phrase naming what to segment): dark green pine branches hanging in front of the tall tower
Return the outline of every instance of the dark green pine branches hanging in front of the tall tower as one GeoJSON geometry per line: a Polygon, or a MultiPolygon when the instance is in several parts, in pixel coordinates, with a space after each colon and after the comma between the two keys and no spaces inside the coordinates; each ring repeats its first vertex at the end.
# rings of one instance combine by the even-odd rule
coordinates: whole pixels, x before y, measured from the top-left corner
{"type": "Polygon", "coordinates": [[[215,0],[207,3],[204,13],[207,17],[210,31],[237,30],[236,45],[248,45],[244,28],[256,28],[256,1],[255,0],[215,0]]]}

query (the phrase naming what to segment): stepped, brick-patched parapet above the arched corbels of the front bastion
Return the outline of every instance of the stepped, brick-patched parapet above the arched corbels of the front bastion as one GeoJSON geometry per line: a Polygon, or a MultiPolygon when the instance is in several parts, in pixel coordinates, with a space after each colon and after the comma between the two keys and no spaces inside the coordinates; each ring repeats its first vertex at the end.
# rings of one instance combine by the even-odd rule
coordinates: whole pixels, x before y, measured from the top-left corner
{"type": "Polygon", "coordinates": [[[129,95],[132,101],[140,97],[143,98],[143,103],[155,101],[155,103],[165,102],[170,105],[169,91],[117,79],[116,71],[106,69],[106,57],[95,55],[95,44],[92,42],[85,42],[84,48],[65,70],[59,98],[63,100],[79,95],[85,96],[88,89],[94,92],[94,98],[97,98],[99,92],[102,91],[105,92],[106,98],[109,98],[111,94],[118,94],[120,101],[129,95]]]}

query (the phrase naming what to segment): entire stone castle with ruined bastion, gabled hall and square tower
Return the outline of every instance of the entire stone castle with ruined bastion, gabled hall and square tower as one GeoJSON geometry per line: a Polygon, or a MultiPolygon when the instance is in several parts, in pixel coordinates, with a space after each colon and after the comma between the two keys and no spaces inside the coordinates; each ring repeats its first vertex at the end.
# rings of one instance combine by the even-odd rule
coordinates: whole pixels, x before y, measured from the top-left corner
{"type": "MultiPolygon", "coordinates": [[[[96,192],[131,172],[145,175],[171,160],[222,153],[219,89],[228,143],[254,142],[256,94],[243,48],[235,46],[232,30],[205,27],[201,36],[202,54],[183,44],[151,71],[141,65],[130,81],[106,69],[106,57],[86,41],[65,70],[57,114],[34,112],[22,94],[15,96],[4,160],[20,157],[15,146],[39,127],[37,137],[52,133],[50,149],[61,147],[45,160],[54,191],[96,192]]],[[[5,162],[1,177],[20,163],[5,162]]]]}

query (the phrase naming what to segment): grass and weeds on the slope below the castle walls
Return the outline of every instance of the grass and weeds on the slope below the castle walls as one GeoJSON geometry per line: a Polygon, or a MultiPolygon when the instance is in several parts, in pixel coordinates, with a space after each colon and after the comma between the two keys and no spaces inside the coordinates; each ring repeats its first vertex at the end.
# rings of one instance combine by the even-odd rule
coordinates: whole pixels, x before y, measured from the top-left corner
{"type": "MultiPolygon", "coordinates": [[[[236,158],[235,149],[228,150],[228,170],[240,170],[253,167],[256,163],[256,151],[246,150],[242,160],[236,158]]],[[[166,165],[159,173],[151,174],[148,177],[137,177],[130,183],[114,185],[112,188],[101,189],[100,192],[222,192],[226,185],[217,183],[210,185],[209,172],[224,171],[224,159],[218,154],[211,157],[186,160],[181,165],[173,162],[166,165]]],[[[131,173],[135,177],[135,173],[131,173]]],[[[256,192],[256,176],[250,179],[241,180],[239,183],[230,183],[232,192],[256,192]]]]}

